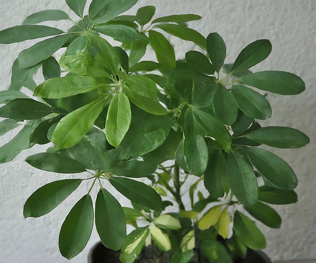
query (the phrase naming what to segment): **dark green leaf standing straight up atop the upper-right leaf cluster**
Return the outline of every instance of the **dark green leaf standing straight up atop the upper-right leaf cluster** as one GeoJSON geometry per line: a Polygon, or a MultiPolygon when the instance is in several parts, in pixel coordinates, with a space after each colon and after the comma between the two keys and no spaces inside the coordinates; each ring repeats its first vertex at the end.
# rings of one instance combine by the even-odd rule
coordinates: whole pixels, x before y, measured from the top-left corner
{"type": "Polygon", "coordinates": [[[226,45],[218,33],[210,33],[206,38],[207,53],[217,73],[221,70],[226,58],[226,45]]]}

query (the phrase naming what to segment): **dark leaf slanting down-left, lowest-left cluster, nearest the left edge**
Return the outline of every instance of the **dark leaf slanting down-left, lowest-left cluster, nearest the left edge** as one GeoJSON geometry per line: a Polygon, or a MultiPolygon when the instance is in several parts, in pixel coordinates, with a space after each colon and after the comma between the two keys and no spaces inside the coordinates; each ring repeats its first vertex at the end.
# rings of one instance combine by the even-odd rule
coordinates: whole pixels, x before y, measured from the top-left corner
{"type": "Polygon", "coordinates": [[[81,184],[81,179],[65,179],[40,187],[29,198],[23,207],[23,215],[41,217],[50,213],[81,184]]]}

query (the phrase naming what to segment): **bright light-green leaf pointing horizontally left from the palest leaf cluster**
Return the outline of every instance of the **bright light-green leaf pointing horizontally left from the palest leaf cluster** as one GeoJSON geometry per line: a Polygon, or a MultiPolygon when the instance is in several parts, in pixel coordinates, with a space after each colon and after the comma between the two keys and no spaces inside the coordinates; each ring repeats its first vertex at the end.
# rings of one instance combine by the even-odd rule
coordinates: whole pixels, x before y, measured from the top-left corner
{"type": "Polygon", "coordinates": [[[96,90],[102,86],[89,76],[65,76],[62,78],[48,79],[38,85],[33,96],[49,99],[60,99],[96,90]]]}

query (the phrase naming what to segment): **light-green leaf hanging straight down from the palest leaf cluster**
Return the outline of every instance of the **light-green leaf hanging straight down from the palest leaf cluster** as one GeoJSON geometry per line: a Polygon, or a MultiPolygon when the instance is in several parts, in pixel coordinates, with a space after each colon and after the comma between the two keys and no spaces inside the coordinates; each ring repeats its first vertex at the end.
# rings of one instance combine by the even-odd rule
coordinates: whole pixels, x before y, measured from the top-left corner
{"type": "Polygon", "coordinates": [[[120,92],[114,96],[106,117],[106,139],[114,147],[119,147],[131,125],[131,105],[128,97],[120,92]]]}

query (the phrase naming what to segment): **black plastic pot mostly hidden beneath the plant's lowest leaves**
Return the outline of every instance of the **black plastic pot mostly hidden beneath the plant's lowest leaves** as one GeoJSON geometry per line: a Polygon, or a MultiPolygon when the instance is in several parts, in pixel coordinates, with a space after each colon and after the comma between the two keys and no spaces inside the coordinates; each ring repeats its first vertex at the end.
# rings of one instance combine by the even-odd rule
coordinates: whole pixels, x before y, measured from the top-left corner
{"type": "MultiPolygon", "coordinates": [[[[120,263],[119,251],[113,251],[106,248],[101,242],[91,248],[88,263],[120,263]]],[[[142,252],[146,259],[138,259],[135,263],[167,263],[166,254],[158,251],[158,249],[145,248],[142,252]],[[146,251],[148,250],[148,251],[146,251]],[[149,251],[150,250],[150,251],[149,251]],[[150,256],[149,256],[150,254],[150,256]]],[[[272,263],[271,260],[262,251],[247,250],[245,259],[235,260],[234,263],[272,263]]]]}

